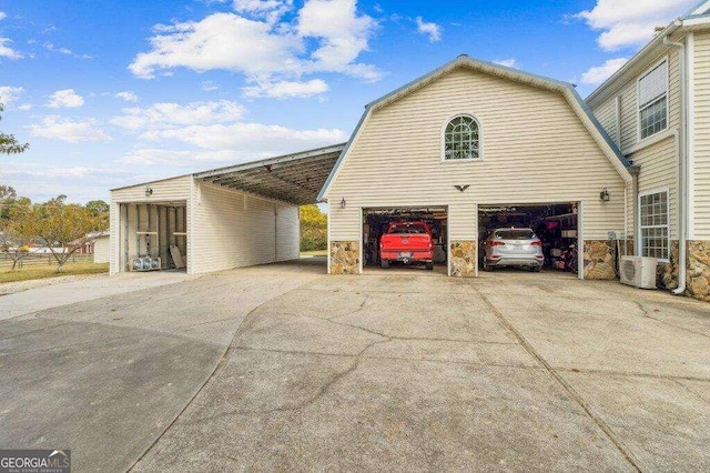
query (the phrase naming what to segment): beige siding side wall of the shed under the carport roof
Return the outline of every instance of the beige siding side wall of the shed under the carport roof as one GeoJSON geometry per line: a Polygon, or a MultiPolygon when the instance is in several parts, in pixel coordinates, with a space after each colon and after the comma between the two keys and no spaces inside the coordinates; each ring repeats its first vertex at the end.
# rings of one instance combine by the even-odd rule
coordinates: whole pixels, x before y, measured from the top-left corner
{"type": "Polygon", "coordinates": [[[192,273],[298,258],[297,207],[195,183],[192,214],[192,273]]]}

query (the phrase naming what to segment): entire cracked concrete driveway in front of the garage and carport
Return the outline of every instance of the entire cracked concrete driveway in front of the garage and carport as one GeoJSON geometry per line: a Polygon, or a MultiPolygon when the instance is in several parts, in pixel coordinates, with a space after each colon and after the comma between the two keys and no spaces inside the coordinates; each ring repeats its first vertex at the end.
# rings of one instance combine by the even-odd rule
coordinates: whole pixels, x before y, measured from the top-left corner
{"type": "Polygon", "coordinates": [[[710,469],[707,303],[556,273],[321,272],[0,323],[0,446],[71,447],[78,471],[710,469]]]}

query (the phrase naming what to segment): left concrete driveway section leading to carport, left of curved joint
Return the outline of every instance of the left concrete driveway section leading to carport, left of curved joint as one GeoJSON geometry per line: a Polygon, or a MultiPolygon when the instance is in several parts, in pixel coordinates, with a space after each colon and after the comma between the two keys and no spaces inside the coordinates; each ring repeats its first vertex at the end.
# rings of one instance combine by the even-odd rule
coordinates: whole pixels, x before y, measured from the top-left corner
{"type": "MultiPolygon", "coordinates": [[[[315,278],[285,264],[136,290],[119,276],[130,292],[60,295],[57,308],[0,321],[0,447],[67,447],[77,471],[129,469],[210,379],[244,318],[315,278]]],[[[69,288],[2,299],[57,289],[69,288]]]]}

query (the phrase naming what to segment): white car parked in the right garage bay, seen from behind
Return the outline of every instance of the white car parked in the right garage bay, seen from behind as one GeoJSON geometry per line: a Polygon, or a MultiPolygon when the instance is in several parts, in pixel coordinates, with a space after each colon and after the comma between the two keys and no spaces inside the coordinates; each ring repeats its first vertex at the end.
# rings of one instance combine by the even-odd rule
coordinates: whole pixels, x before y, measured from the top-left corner
{"type": "Polygon", "coordinates": [[[518,266],[540,271],[545,262],[542,242],[531,229],[497,229],[486,239],[483,263],[485,271],[518,266]]]}

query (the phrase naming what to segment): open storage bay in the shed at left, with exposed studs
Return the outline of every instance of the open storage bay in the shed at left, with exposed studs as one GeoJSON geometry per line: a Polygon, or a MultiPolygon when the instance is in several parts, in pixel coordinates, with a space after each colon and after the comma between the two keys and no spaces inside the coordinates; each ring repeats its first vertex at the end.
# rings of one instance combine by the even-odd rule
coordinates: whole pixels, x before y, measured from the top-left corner
{"type": "Polygon", "coordinates": [[[123,271],[186,271],[185,202],[121,204],[123,271]]]}

